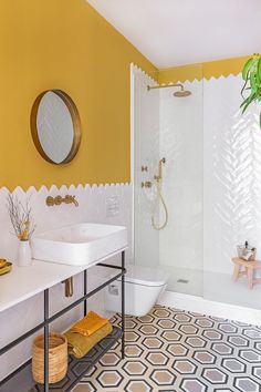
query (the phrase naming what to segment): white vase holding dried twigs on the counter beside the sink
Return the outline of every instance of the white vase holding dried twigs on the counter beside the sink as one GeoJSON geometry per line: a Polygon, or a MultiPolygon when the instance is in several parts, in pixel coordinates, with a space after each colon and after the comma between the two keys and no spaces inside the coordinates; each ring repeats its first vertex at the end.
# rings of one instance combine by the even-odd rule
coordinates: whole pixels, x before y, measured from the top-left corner
{"type": "Polygon", "coordinates": [[[14,230],[14,235],[19,239],[18,260],[20,267],[30,266],[32,262],[30,238],[35,229],[32,219],[32,209],[29,200],[23,205],[13,195],[8,195],[8,212],[14,230]]]}

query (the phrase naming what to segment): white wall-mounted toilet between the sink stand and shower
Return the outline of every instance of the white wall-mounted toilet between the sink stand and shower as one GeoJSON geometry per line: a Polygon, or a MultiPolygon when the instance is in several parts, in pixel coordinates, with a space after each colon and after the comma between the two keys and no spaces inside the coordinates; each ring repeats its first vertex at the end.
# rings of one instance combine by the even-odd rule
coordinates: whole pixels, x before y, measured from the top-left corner
{"type": "MultiPolygon", "coordinates": [[[[126,266],[125,275],[125,313],[145,316],[155,306],[159,295],[167,285],[167,275],[158,268],[147,268],[135,265],[126,266]]],[[[105,309],[121,312],[122,301],[121,279],[106,287],[105,309]]]]}

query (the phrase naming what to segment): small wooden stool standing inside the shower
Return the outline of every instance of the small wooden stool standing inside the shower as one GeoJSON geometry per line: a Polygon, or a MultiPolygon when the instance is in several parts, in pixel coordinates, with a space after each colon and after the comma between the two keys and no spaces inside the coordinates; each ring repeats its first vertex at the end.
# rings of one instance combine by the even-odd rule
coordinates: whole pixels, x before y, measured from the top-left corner
{"type": "Polygon", "coordinates": [[[261,278],[254,279],[253,278],[253,272],[255,269],[261,270],[261,261],[247,261],[243,259],[240,259],[238,257],[232,258],[232,262],[234,264],[233,268],[233,281],[237,281],[240,276],[246,276],[248,279],[248,288],[252,289],[253,283],[261,283],[261,278]],[[242,271],[241,268],[244,268],[242,271]]]}

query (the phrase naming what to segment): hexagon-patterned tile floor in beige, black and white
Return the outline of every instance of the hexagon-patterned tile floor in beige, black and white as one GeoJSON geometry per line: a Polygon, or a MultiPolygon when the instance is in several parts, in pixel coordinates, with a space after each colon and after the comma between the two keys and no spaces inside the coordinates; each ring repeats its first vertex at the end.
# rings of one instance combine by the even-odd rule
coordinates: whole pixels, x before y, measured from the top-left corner
{"type": "MultiPolygon", "coordinates": [[[[112,320],[119,324],[119,316],[112,320]]],[[[74,392],[261,392],[261,328],[156,306],[74,392]]]]}

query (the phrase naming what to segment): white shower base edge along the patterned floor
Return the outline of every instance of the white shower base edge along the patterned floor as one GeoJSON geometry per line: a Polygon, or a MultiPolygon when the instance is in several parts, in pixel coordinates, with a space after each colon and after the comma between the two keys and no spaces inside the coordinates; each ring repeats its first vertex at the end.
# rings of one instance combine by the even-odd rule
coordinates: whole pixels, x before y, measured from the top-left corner
{"type": "Polygon", "coordinates": [[[165,291],[159,297],[157,303],[176,309],[194,311],[201,314],[241,321],[253,326],[261,326],[261,310],[210,301],[201,297],[165,291]]]}

